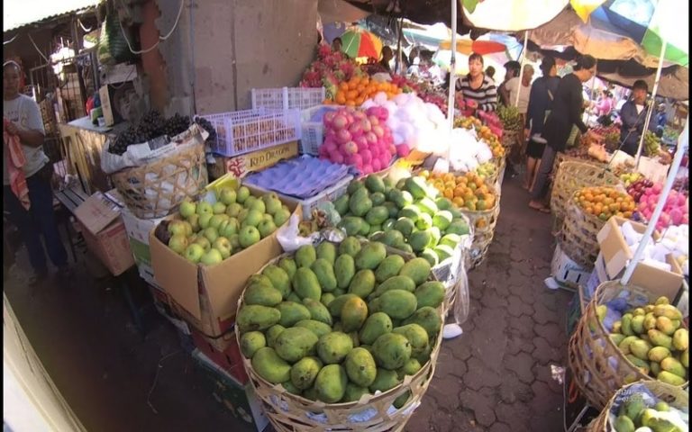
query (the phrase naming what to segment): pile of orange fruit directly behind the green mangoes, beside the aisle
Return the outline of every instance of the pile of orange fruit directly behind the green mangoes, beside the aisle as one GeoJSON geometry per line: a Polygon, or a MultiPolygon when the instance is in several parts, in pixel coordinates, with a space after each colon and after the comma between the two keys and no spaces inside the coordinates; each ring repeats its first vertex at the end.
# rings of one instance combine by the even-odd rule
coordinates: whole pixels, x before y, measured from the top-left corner
{"type": "Polygon", "coordinates": [[[440,191],[442,196],[462,210],[484,211],[492,209],[496,204],[495,191],[476,173],[454,175],[423,170],[420,175],[440,191]]]}

